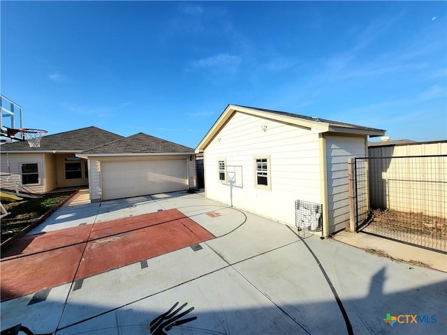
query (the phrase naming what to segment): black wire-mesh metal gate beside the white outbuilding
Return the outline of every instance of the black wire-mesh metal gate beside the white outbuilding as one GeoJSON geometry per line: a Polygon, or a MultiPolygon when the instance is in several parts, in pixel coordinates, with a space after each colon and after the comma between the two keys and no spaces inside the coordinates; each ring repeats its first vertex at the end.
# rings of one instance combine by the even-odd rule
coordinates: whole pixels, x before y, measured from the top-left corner
{"type": "Polygon", "coordinates": [[[447,253],[447,155],[355,158],[356,232],[447,253]]]}

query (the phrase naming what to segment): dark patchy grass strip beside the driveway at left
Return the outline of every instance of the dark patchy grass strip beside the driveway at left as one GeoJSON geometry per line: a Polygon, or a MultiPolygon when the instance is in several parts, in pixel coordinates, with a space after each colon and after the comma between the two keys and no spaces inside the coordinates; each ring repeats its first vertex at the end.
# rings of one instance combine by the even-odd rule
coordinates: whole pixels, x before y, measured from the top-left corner
{"type": "Polygon", "coordinates": [[[42,198],[3,203],[8,216],[1,219],[1,241],[34,223],[47,211],[64,202],[73,192],[50,193],[42,198]]]}

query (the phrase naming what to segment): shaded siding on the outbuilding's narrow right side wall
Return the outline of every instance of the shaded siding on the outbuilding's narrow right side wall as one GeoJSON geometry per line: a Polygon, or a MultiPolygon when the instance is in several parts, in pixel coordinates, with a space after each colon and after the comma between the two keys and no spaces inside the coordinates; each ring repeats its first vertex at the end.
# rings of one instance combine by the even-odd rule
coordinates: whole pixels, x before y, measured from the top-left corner
{"type": "Polygon", "coordinates": [[[348,159],[365,157],[365,137],[326,135],[329,233],[349,226],[348,159]]]}

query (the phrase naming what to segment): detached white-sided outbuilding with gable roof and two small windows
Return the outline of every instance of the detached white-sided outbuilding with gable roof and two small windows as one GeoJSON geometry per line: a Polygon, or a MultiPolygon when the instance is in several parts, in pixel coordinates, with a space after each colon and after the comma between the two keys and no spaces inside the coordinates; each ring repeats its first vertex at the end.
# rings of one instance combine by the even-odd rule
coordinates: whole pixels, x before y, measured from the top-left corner
{"type": "Polygon", "coordinates": [[[228,105],[196,147],[207,198],[295,225],[295,200],[322,204],[321,234],[349,226],[348,158],[381,129],[228,105]]]}

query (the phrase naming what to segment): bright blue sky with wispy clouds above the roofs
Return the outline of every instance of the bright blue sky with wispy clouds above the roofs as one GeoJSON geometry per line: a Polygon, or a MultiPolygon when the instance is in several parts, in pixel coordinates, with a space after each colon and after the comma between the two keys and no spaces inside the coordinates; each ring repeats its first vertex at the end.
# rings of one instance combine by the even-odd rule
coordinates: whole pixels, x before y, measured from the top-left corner
{"type": "Polygon", "coordinates": [[[24,127],[196,147],[228,103],[447,138],[445,1],[1,1],[24,127]]]}

